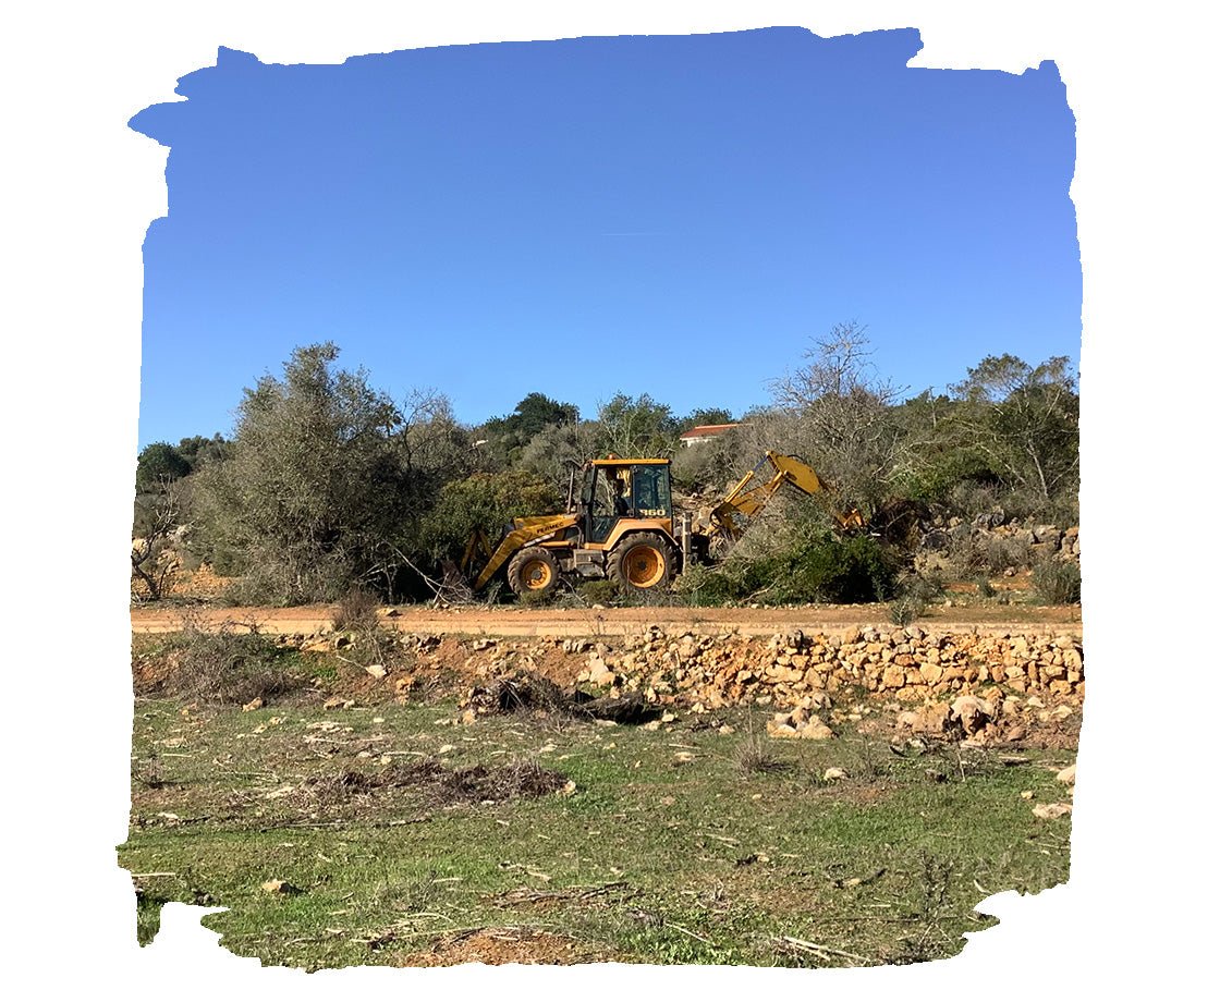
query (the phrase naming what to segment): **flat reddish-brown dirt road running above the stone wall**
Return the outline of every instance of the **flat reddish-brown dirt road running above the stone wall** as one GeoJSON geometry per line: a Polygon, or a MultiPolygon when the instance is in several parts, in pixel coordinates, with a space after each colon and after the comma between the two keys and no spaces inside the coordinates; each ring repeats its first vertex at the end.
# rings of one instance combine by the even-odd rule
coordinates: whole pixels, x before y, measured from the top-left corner
{"type": "MultiPolygon", "coordinates": [[[[623,636],[659,626],[667,633],[692,632],[769,636],[799,627],[808,632],[836,631],[845,626],[878,625],[893,629],[887,605],[804,605],[786,609],[689,609],[650,607],[631,609],[427,609],[400,605],[383,610],[383,621],[407,633],[466,633],[489,636],[623,636]]],[[[251,625],[262,632],[316,633],[331,627],[334,607],[305,605],[293,609],[132,609],[132,631],[166,633],[184,624],[201,629],[251,625]]],[[[1066,607],[937,607],[916,622],[925,630],[946,633],[1022,631],[1081,636],[1078,605],[1066,607]]]]}

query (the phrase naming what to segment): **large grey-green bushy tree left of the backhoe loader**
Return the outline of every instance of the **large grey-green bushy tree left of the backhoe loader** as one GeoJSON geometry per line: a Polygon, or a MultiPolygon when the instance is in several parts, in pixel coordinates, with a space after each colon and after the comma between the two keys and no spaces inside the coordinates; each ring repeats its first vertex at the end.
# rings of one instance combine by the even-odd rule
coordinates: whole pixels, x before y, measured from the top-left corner
{"type": "Polygon", "coordinates": [[[389,539],[432,443],[412,441],[418,428],[362,370],[337,369],[338,354],[329,342],[298,348],[282,377],[246,389],[229,459],[193,477],[205,537],[242,574],[245,599],[333,599],[392,572],[389,539]]]}

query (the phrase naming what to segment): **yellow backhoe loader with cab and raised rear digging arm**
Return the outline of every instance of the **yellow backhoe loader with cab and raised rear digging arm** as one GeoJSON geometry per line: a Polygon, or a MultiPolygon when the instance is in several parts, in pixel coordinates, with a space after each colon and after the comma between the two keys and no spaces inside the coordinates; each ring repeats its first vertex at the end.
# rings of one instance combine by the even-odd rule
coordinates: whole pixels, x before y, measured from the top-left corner
{"type": "MultiPolygon", "coordinates": [[[[783,485],[826,492],[808,465],[769,452],[705,517],[675,524],[667,459],[610,455],[581,472],[580,493],[573,475],[562,515],[514,519],[494,547],[475,531],[460,569],[476,592],[501,570],[517,594],[549,594],[565,576],[610,578],[625,592],[666,588],[680,565],[739,539],[783,485]]],[[[844,530],[864,525],[859,511],[833,514],[844,530]]]]}

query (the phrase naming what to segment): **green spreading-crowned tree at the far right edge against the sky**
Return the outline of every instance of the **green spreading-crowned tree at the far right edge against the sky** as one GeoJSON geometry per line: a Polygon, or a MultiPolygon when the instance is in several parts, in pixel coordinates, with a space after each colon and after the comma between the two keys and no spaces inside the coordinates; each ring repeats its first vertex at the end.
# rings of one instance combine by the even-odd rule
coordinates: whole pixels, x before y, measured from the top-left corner
{"type": "Polygon", "coordinates": [[[975,445],[1013,487],[1043,502],[1075,492],[1080,476],[1080,398],[1066,356],[1031,366],[988,355],[952,387],[975,445]]]}

